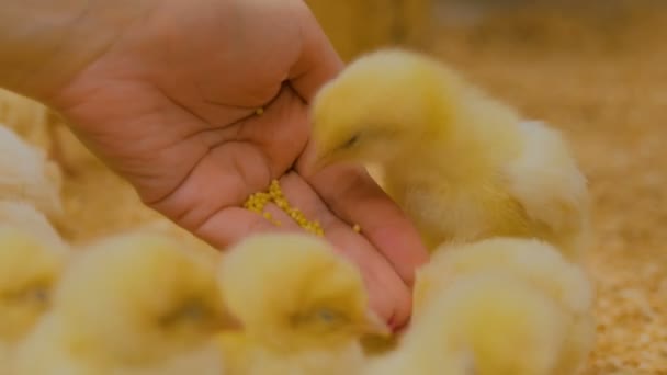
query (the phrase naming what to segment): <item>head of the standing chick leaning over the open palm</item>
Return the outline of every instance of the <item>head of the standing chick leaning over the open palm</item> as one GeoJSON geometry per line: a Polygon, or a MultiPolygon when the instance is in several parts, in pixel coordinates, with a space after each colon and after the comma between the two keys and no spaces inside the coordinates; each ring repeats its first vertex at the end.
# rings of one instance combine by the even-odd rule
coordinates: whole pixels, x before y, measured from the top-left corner
{"type": "Polygon", "coordinates": [[[397,48],[352,61],[313,102],[315,164],[386,162],[441,130],[443,72],[434,59],[397,48]]]}

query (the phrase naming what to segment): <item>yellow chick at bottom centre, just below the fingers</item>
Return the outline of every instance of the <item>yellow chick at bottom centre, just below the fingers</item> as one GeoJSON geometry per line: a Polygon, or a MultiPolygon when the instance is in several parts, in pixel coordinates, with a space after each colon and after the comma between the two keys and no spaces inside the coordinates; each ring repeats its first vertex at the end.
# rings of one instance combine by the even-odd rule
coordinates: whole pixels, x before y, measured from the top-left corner
{"type": "Polygon", "coordinates": [[[360,338],[391,333],[358,268],[315,236],[249,237],[223,257],[218,280],[244,327],[221,338],[229,374],[355,374],[360,338]]]}

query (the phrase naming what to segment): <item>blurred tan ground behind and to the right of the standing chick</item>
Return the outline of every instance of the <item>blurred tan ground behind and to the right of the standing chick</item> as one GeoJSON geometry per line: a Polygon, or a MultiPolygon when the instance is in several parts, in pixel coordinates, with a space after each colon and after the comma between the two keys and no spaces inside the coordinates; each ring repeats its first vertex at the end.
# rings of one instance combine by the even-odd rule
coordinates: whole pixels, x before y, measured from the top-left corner
{"type": "Polygon", "coordinates": [[[565,133],[595,200],[587,374],[667,374],[667,1],[306,2],[343,59],[423,50],[565,133]]]}

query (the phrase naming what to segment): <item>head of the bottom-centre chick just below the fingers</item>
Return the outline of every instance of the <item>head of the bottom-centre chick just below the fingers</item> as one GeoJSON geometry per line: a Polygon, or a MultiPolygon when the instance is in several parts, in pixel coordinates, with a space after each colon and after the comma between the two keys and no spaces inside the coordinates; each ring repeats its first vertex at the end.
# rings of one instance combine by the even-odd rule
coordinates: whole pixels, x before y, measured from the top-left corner
{"type": "Polygon", "coordinates": [[[219,281],[231,312],[262,342],[330,348],[388,334],[359,270],[314,236],[249,237],[223,258],[219,281]]]}

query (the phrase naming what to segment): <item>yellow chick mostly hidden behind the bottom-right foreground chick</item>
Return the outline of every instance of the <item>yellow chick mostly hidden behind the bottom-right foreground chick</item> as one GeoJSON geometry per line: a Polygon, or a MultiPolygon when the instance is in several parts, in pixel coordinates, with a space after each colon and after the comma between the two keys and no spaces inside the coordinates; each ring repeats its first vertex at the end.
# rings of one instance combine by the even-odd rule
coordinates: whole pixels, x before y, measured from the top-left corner
{"type": "Polygon", "coordinates": [[[506,271],[540,289],[567,318],[565,344],[556,375],[574,374],[595,345],[592,283],[553,246],[536,239],[491,238],[466,245],[444,245],[417,271],[414,320],[460,277],[478,272],[506,271]]]}

